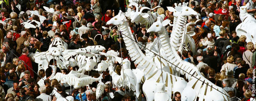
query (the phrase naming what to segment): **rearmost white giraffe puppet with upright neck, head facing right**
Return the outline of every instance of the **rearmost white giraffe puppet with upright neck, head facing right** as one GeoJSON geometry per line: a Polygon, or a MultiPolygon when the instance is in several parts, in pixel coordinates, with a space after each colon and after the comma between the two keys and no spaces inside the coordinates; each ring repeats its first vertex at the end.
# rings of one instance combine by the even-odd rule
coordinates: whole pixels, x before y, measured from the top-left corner
{"type": "MultiPolygon", "coordinates": [[[[167,7],[169,11],[173,12],[174,20],[173,20],[173,28],[172,28],[172,34],[170,37],[170,43],[174,46],[176,51],[180,51],[182,53],[182,50],[191,50],[194,54],[196,53],[196,46],[195,41],[191,37],[195,35],[193,31],[187,32],[187,27],[189,25],[195,24],[195,23],[188,23],[187,22],[187,15],[184,14],[185,12],[188,12],[186,10],[188,3],[183,2],[183,5],[181,6],[181,3],[177,6],[175,3],[175,8],[173,7],[167,7]],[[186,9],[186,10],[183,10],[186,9]]],[[[196,12],[194,12],[192,15],[197,15],[196,12]]]]}

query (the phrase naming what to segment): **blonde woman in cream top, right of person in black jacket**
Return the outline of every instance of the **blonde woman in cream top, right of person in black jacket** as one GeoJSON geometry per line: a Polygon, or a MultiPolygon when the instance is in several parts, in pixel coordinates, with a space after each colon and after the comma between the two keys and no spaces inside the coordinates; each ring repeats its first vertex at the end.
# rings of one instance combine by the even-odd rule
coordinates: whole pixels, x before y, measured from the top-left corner
{"type": "Polygon", "coordinates": [[[232,64],[234,62],[234,57],[233,56],[229,56],[227,58],[227,63],[224,64],[222,67],[221,67],[221,71],[222,70],[225,70],[225,71],[228,71],[228,70],[233,70],[236,65],[235,64],[232,64]]]}

